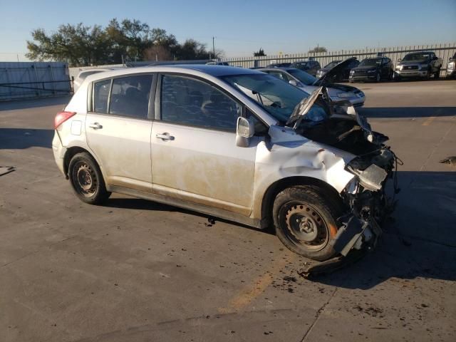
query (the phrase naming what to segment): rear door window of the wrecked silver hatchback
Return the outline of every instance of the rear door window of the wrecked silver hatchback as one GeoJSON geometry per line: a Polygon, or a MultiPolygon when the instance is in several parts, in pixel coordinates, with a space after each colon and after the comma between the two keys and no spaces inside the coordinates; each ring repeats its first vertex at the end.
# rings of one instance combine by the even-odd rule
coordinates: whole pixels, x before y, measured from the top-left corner
{"type": "Polygon", "coordinates": [[[147,118],[151,85],[152,75],[114,78],[109,113],[131,118],[147,118]]]}

